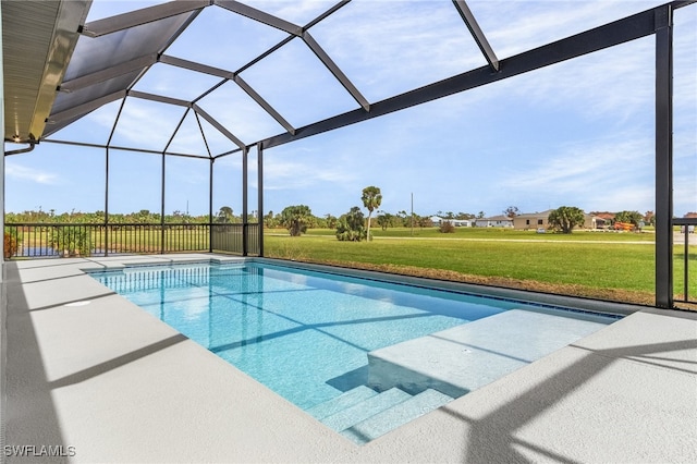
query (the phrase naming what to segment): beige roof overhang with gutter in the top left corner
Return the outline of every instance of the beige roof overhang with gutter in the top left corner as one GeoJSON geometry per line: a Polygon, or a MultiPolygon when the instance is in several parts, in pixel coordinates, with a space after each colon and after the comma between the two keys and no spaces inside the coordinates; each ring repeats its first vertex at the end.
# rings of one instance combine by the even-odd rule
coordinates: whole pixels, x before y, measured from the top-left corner
{"type": "Polygon", "coordinates": [[[91,0],[2,2],[4,139],[41,137],[91,0]]]}

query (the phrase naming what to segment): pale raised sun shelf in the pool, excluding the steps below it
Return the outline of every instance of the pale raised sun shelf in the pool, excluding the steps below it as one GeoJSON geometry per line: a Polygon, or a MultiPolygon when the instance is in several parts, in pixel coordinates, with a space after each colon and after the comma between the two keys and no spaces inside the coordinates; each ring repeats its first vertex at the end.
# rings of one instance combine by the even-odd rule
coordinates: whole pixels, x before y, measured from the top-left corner
{"type": "Polygon", "coordinates": [[[511,309],[368,353],[368,386],[457,398],[607,326],[511,309]]]}

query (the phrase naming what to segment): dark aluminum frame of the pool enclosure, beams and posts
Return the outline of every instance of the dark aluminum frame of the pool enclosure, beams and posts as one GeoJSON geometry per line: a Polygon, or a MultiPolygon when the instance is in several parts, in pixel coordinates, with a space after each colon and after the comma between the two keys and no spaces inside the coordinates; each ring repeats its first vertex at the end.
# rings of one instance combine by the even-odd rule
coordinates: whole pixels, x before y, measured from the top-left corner
{"type": "MultiPolygon", "coordinates": [[[[328,17],[339,9],[348,3],[350,0],[340,1],[334,7],[322,13],[317,19],[313,20],[305,26],[299,26],[282,19],[264,13],[254,8],[244,5],[243,3],[231,0],[210,0],[210,1],[182,1],[170,2],[148,9],[139,10],[132,13],[125,13],[123,15],[114,16],[112,19],[100,20],[97,22],[88,23],[84,26],[82,33],[89,37],[102,37],[109,34],[119,32],[125,32],[131,27],[138,27],[149,22],[176,17],[178,15],[187,14],[186,17],[182,16],[181,27],[176,33],[166,40],[163,47],[157,51],[157,53],[149,54],[127,61],[125,63],[119,63],[118,65],[108,70],[98,70],[86,75],[76,76],[62,84],[62,89],[71,91],[80,91],[95,84],[100,84],[109,80],[114,80],[121,76],[130,76],[132,73],[136,74],[136,77],[125,88],[108,95],[103,95],[97,99],[86,101],[80,106],[63,109],[57,113],[51,114],[49,123],[60,123],[58,127],[63,127],[75,120],[82,118],[100,106],[122,99],[121,109],[123,109],[124,102],[129,98],[144,98],[152,101],[158,101],[166,105],[174,105],[184,108],[184,115],[181,119],[181,123],[186,118],[189,111],[193,110],[196,121],[199,125],[201,136],[205,139],[203,127],[200,126],[200,119],[203,118],[216,130],[230,139],[237,148],[222,154],[211,154],[208,145],[208,156],[189,155],[189,154],[175,154],[168,151],[168,148],[176,134],[176,131],[169,138],[167,146],[161,150],[140,150],[126,147],[117,147],[111,145],[114,130],[117,127],[119,118],[121,115],[121,109],[114,121],[113,129],[111,131],[109,141],[106,145],[99,144],[76,144],[86,145],[93,147],[100,147],[106,149],[106,164],[107,164],[107,185],[106,196],[108,204],[108,170],[109,170],[109,150],[127,149],[143,152],[152,152],[162,156],[162,218],[164,217],[164,171],[166,171],[166,157],[170,156],[188,156],[194,158],[209,159],[210,161],[210,183],[209,194],[212,197],[212,167],[216,159],[227,157],[230,155],[241,154],[243,163],[243,219],[247,220],[247,170],[248,162],[247,157],[250,149],[256,148],[257,152],[257,166],[258,166],[258,205],[259,211],[262,209],[262,164],[264,150],[272,147],[277,147],[283,144],[295,142],[305,137],[321,134],[323,132],[333,131],[346,125],[355,124],[358,122],[367,121],[372,118],[386,115],[395,111],[400,111],[409,107],[418,106],[428,101],[432,101],[439,98],[443,98],[450,95],[469,90],[479,86],[491,84],[504,78],[513,77],[519,74],[524,74],[530,71],[535,71],[541,68],[546,68],[555,63],[560,63],[566,60],[582,57],[584,54],[592,53],[599,50],[603,50],[610,47],[614,47],[624,42],[628,42],[641,37],[656,36],[656,305],[659,307],[670,308],[673,307],[673,266],[672,266],[672,218],[673,218],[673,193],[672,193],[672,162],[673,162],[673,145],[672,145],[672,71],[673,71],[673,12],[680,8],[687,7],[695,3],[697,0],[680,0],[665,3],[660,7],[651,8],[640,13],[633,14],[631,16],[608,23],[606,25],[586,30],[574,36],[557,40],[554,42],[535,48],[533,50],[518,53],[516,56],[499,60],[489,45],[485,34],[481,32],[476,23],[476,20],[469,9],[467,8],[465,0],[452,0],[455,11],[463,19],[465,26],[468,28],[470,35],[477,42],[482,56],[487,61],[487,65],[457,74],[455,76],[426,85],[424,87],[406,91],[404,94],[393,96],[381,101],[370,102],[368,101],[355,85],[345,76],[341,69],[332,61],[323,49],[311,37],[308,29],[318,24],[323,19],[328,17]],[[288,33],[289,36],[281,40],[276,46],[271,47],[266,52],[253,59],[249,63],[245,64],[236,71],[221,70],[213,66],[207,66],[200,63],[191,62],[187,60],[178,59],[164,54],[164,51],[169,45],[181,34],[181,32],[191,24],[198,13],[204,8],[216,5],[236,14],[244,15],[253,19],[268,26],[274,27],[279,30],[288,33]],[[334,78],[344,87],[344,89],[353,97],[358,105],[355,110],[347,111],[342,114],[338,114],[321,121],[317,121],[305,125],[303,127],[294,127],[286,119],[278,112],[271,105],[269,105],[261,95],[259,95],[252,86],[249,86],[242,77],[240,73],[249,66],[256,64],[265,57],[269,56],[279,48],[285,46],[293,39],[302,40],[317,57],[317,59],[331,72],[334,78]],[[183,69],[187,69],[195,72],[206,73],[212,76],[220,77],[221,81],[212,86],[210,89],[196,97],[191,101],[181,100],[171,97],[150,95],[142,91],[136,91],[133,86],[139,77],[145,73],[149,66],[155,63],[164,63],[183,69]],[[211,91],[220,87],[227,82],[234,82],[237,84],[257,105],[259,105],[269,115],[271,115],[285,132],[278,135],[267,137],[260,141],[247,142],[240,139],[234,133],[232,133],[223,124],[220,124],[215,118],[208,114],[200,106],[198,101],[211,91]]],[[[172,20],[173,21],[173,20],[172,20]]],[[[179,23],[178,23],[179,24],[179,23]]],[[[179,127],[179,126],[178,126],[179,127]]],[[[49,135],[51,132],[49,131],[49,135]]],[[[64,141],[54,141],[51,138],[44,138],[40,142],[46,143],[71,143],[64,141]]],[[[212,205],[212,202],[211,202],[212,205]]],[[[210,206],[212,208],[212,206],[210,206]]],[[[108,209],[106,209],[108,215],[108,209]]],[[[212,217],[212,210],[209,211],[212,217]]],[[[262,228],[259,228],[260,236],[259,243],[261,246],[262,256],[262,228]]],[[[245,245],[246,251],[246,233],[245,245]]]]}

